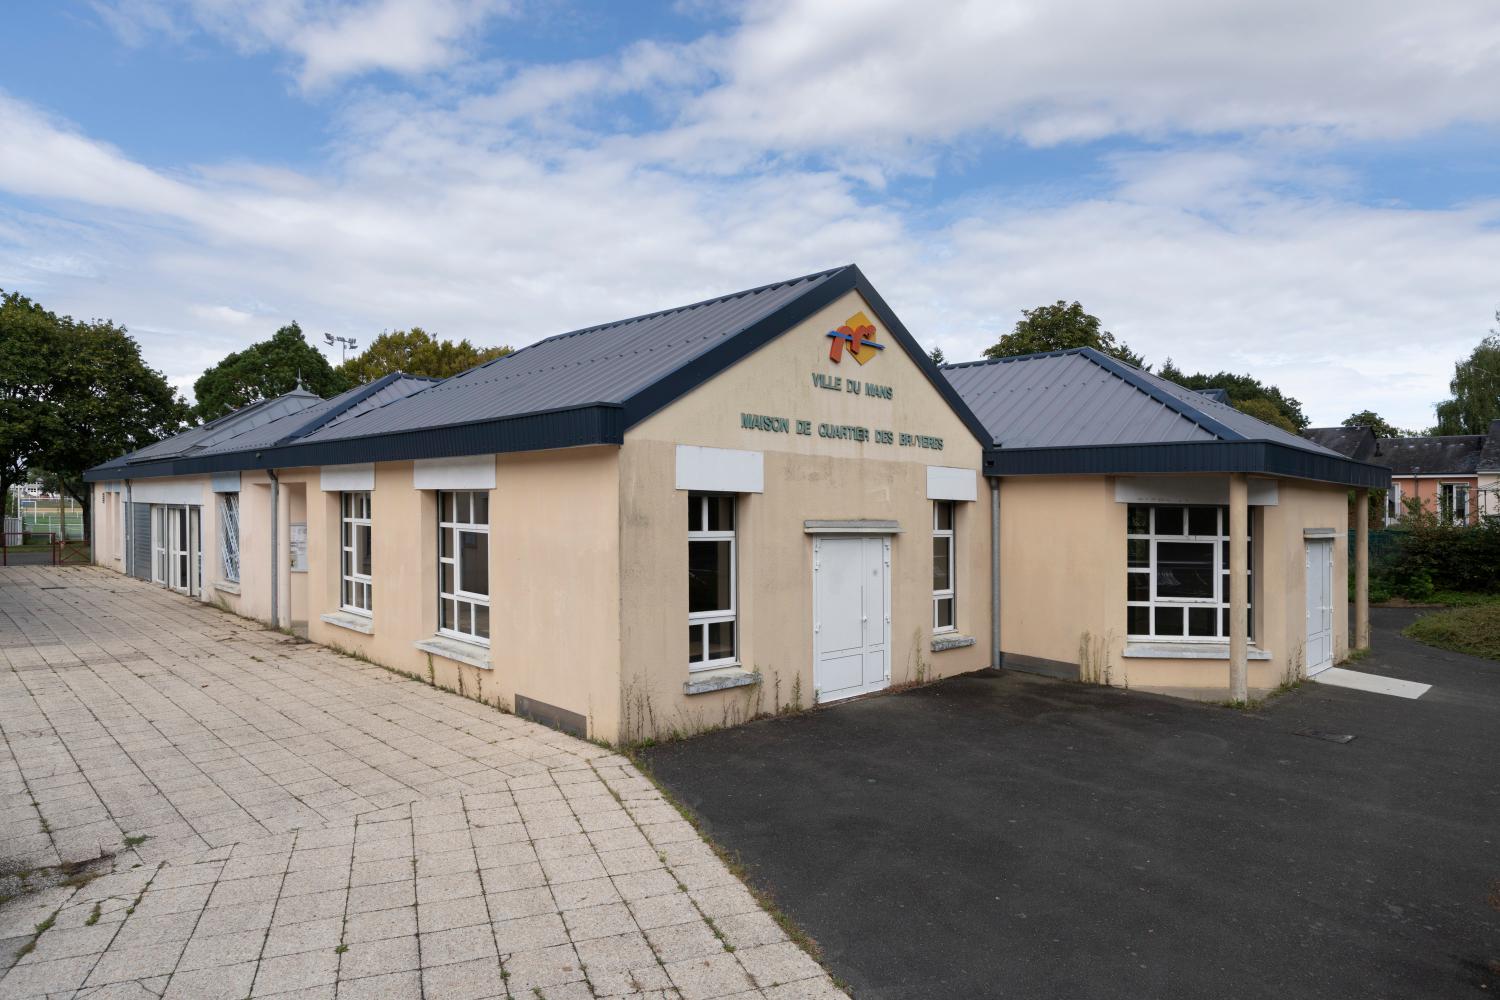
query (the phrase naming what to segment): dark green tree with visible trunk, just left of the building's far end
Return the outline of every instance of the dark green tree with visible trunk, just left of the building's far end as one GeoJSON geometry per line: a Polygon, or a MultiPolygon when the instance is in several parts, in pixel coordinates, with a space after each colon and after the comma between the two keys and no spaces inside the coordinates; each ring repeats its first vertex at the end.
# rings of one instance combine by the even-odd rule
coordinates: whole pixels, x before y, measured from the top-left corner
{"type": "Polygon", "coordinates": [[[93,490],[84,471],[177,433],[189,409],[124,327],[63,318],[57,343],[51,403],[63,433],[42,444],[36,465],[78,501],[87,532],[93,490]]]}

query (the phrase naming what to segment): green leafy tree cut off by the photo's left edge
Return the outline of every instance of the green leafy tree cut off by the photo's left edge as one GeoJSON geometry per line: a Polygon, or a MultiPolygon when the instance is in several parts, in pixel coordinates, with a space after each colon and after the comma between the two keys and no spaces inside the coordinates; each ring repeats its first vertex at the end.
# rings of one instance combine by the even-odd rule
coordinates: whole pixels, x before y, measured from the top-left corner
{"type": "Polygon", "coordinates": [[[0,501],[22,481],[42,442],[63,432],[51,403],[58,319],[18,292],[0,291],[0,501]]]}

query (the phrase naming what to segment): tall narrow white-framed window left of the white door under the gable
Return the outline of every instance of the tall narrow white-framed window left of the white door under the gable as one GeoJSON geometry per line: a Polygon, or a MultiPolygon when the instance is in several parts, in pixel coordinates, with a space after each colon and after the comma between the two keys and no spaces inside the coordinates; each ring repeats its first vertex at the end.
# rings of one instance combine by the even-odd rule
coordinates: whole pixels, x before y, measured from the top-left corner
{"type": "Polygon", "coordinates": [[[687,495],[687,669],[736,663],[735,498],[687,495]]]}

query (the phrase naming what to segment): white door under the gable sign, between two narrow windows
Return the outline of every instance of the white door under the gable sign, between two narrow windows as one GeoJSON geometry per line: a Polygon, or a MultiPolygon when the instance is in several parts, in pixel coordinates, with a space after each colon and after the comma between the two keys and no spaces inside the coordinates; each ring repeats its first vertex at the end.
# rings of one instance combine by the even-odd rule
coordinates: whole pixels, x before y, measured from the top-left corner
{"type": "Polygon", "coordinates": [[[813,687],[819,702],[891,679],[891,540],[813,541],[813,687]]]}

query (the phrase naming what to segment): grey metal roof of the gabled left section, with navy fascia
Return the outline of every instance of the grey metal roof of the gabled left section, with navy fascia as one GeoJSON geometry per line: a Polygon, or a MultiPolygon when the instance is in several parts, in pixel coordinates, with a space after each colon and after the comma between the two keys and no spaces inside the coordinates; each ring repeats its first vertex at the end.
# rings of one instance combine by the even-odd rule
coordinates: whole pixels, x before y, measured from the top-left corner
{"type": "MultiPolygon", "coordinates": [[[[854,264],[549,337],[297,436],[134,466],[135,477],[620,444],[626,429],[840,295],[870,312],[980,441],[982,424],[854,264]]],[[[268,435],[270,432],[267,432],[268,435]]],[[[260,442],[261,436],[246,441],[260,442]]],[[[90,478],[104,478],[90,471],[90,478]]]]}

